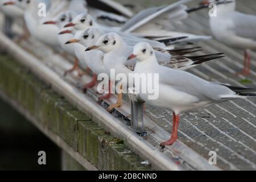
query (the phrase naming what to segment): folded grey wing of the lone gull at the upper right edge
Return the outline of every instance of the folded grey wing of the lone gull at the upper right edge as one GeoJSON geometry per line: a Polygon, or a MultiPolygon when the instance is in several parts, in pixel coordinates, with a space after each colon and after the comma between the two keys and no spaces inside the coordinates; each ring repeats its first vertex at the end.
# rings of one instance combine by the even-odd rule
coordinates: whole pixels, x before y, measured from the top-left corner
{"type": "Polygon", "coordinates": [[[232,19],[237,36],[256,39],[256,16],[236,12],[232,15],[232,19]]]}

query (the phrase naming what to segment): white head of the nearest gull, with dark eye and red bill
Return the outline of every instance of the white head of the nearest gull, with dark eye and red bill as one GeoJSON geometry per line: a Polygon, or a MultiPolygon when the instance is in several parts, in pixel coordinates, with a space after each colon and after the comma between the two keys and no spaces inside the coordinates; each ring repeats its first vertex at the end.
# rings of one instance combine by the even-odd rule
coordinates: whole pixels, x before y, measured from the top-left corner
{"type": "Polygon", "coordinates": [[[134,46],[133,54],[128,57],[129,59],[137,58],[138,61],[146,61],[155,56],[154,49],[147,42],[141,42],[134,46]]]}

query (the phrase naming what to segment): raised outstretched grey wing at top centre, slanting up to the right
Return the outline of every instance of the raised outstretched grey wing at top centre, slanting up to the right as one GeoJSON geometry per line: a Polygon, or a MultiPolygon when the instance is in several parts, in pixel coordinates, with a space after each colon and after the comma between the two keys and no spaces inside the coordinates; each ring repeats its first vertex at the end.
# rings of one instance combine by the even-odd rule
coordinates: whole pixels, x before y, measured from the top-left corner
{"type": "Polygon", "coordinates": [[[166,13],[169,14],[170,18],[174,18],[177,15],[183,15],[182,13],[177,13],[177,10],[183,10],[183,3],[187,3],[189,1],[191,0],[181,0],[169,6],[152,7],[150,9],[143,10],[126,22],[122,26],[121,30],[126,32],[134,31],[151,20],[158,18],[159,16],[163,16],[166,13]],[[172,15],[172,13],[174,14],[172,15]]]}

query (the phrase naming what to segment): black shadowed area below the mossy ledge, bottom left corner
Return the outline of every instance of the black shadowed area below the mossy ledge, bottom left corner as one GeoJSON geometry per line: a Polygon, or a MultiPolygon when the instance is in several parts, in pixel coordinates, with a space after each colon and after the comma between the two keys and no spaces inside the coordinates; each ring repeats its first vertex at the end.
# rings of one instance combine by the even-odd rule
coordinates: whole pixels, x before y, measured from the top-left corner
{"type": "Polygon", "coordinates": [[[60,169],[59,147],[0,99],[0,171],[60,169]],[[39,151],[46,152],[47,165],[38,164],[39,151]]]}

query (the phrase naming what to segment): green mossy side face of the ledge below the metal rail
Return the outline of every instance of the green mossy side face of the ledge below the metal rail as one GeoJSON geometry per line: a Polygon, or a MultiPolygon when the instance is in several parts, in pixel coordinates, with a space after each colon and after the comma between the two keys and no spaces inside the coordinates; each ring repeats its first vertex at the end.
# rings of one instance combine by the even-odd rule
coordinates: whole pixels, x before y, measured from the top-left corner
{"type": "Polygon", "coordinates": [[[87,115],[69,104],[27,68],[10,56],[0,55],[0,90],[59,135],[100,170],[150,170],[150,166],[112,137],[87,115]]]}

